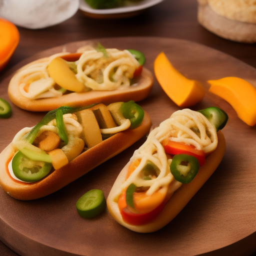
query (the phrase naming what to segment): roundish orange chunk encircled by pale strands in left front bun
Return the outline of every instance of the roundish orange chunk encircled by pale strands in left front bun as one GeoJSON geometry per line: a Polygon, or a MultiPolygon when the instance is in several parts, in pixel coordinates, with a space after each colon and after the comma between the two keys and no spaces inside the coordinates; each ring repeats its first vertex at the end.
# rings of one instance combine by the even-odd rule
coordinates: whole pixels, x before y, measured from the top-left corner
{"type": "Polygon", "coordinates": [[[58,147],[59,142],[60,137],[55,132],[51,130],[45,130],[35,138],[34,145],[44,151],[51,151],[58,147]]]}

